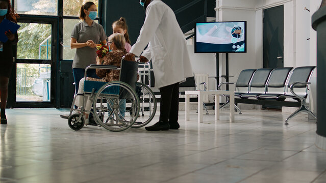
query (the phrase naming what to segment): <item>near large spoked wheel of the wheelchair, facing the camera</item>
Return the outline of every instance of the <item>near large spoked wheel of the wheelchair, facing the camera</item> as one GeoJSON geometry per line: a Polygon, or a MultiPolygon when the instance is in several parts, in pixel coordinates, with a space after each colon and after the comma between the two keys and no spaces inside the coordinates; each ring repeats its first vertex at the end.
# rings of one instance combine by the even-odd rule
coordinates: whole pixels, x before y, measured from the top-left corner
{"type": "Polygon", "coordinates": [[[127,83],[111,81],[98,89],[93,102],[96,123],[119,132],[131,127],[139,113],[139,99],[127,83]],[[105,115],[102,115],[105,114],[105,115]]]}

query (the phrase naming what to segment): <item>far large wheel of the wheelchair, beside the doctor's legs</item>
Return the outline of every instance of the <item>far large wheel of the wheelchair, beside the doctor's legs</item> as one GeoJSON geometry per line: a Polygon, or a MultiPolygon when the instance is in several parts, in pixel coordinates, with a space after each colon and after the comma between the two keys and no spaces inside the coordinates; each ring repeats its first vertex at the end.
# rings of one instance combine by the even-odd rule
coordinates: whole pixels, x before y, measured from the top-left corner
{"type": "Polygon", "coordinates": [[[143,83],[136,84],[136,93],[139,97],[139,116],[131,128],[140,128],[147,125],[156,113],[156,98],[151,88],[143,83]]]}

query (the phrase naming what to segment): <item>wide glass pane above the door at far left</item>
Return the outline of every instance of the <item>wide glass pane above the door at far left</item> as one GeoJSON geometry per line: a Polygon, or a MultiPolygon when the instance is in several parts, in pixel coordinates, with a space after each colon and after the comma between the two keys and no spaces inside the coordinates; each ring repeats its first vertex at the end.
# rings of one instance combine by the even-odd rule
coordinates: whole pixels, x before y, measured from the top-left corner
{"type": "Polygon", "coordinates": [[[58,15],[58,0],[14,0],[18,14],[58,15]]]}

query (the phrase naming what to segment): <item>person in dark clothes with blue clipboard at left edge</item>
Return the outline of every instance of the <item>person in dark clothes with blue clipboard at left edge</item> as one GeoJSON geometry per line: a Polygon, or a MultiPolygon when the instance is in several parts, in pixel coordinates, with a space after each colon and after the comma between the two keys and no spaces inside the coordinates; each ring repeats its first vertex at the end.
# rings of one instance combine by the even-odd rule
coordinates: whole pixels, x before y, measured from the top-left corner
{"type": "MultiPolygon", "coordinates": [[[[4,19],[8,19],[17,23],[18,14],[11,8],[10,0],[0,0],[0,23],[4,19]]],[[[13,62],[13,50],[12,45],[16,45],[18,42],[18,34],[6,31],[5,35],[8,37],[8,41],[3,43],[0,41],[0,101],[1,101],[1,124],[7,124],[6,117],[6,105],[8,98],[8,84],[11,74],[13,62]]]]}

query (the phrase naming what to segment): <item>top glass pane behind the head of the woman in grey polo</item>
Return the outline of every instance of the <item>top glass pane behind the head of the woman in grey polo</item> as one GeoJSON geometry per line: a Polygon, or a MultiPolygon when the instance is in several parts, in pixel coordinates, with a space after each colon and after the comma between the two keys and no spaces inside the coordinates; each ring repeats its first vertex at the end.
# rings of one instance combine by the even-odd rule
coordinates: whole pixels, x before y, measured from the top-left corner
{"type": "MultiPolygon", "coordinates": [[[[63,0],[63,16],[77,16],[79,17],[80,9],[83,4],[88,1],[79,0],[63,0]]],[[[96,5],[98,15],[98,0],[91,1],[96,5]]]]}

